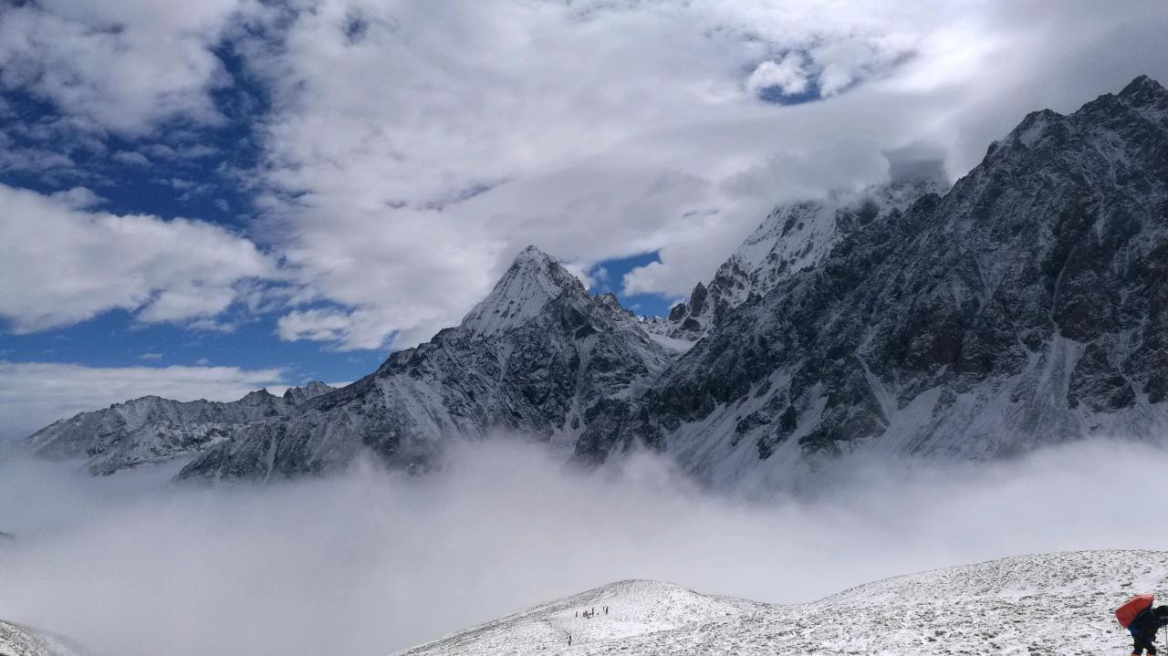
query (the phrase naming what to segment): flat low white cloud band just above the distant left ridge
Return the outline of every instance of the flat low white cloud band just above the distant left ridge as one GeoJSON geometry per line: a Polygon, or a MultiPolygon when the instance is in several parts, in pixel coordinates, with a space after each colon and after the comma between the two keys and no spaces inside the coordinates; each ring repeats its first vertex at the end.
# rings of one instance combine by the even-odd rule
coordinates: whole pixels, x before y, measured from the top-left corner
{"type": "Polygon", "coordinates": [[[278,369],[98,368],[0,361],[0,438],[28,435],[63,417],[147,395],[175,400],[227,402],[265,385],[279,385],[283,381],[278,369]]]}

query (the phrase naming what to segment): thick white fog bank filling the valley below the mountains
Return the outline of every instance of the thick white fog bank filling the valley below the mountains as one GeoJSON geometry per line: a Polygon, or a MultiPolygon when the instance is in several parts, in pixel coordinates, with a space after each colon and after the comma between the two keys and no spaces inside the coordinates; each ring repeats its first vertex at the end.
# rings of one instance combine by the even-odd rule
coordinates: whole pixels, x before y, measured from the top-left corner
{"type": "Polygon", "coordinates": [[[125,656],[373,656],[626,578],[808,601],[999,557],[1155,547],[1168,525],[1115,512],[1115,490],[1164,466],[1162,449],[1093,442],[841,465],[749,500],[649,458],[585,475],[508,442],[425,477],[211,489],[166,486],[173,468],[20,462],[0,470],[0,530],[18,536],[0,545],[0,617],[125,656]]]}

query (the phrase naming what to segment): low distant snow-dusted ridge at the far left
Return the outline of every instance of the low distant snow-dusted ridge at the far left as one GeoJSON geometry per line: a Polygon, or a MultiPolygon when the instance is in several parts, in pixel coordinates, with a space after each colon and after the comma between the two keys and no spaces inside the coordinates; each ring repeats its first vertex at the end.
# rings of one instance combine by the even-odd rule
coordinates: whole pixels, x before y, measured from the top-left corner
{"type": "Polygon", "coordinates": [[[93,474],[112,474],[200,452],[241,426],[286,417],[332,390],[312,382],[281,397],[259,390],[230,403],[142,397],[61,419],[33,433],[23,448],[51,460],[84,458],[93,474]]]}

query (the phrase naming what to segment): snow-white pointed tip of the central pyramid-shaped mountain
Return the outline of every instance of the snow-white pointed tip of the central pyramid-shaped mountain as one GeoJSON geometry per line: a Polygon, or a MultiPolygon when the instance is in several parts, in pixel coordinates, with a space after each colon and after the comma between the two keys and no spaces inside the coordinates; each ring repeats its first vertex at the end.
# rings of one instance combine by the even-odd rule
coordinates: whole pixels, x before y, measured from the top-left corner
{"type": "Polygon", "coordinates": [[[463,327],[477,335],[505,333],[537,316],[564,292],[588,298],[584,284],[555,258],[527,246],[487,298],[463,319],[463,327]]]}

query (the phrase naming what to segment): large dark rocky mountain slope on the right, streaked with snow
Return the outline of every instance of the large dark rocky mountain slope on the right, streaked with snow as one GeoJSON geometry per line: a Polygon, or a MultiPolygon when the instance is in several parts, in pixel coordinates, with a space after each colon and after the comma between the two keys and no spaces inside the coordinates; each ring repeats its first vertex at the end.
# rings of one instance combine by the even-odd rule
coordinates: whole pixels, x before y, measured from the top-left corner
{"type": "Polygon", "coordinates": [[[861,444],[981,458],[1164,434],[1159,84],[1031,113],[944,197],[858,223],[595,423],[577,459],[644,441],[724,480],[861,444]]]}

